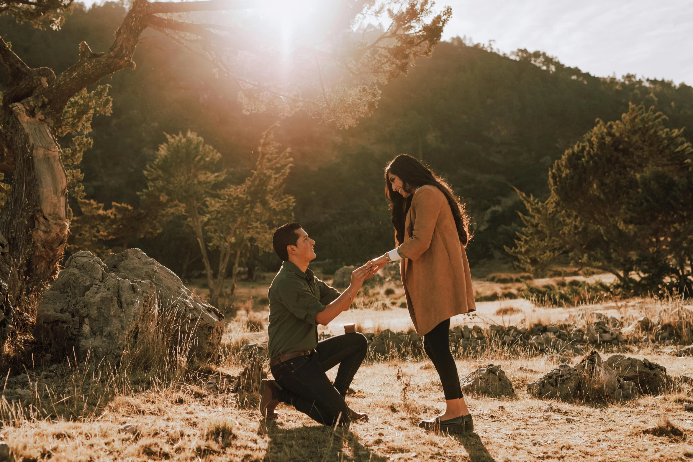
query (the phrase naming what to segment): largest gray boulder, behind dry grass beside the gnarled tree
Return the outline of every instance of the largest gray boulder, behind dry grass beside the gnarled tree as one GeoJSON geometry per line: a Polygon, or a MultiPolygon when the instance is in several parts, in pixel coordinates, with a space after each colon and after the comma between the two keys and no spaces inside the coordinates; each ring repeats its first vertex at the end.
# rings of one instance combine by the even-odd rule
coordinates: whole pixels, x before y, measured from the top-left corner
{"type": "Polygon", "coordinates": [[[54,357],[72,355],[116,360],[152,304],[180,338],[192,340],[191,358],[216,359],[224,328],[218,309],[193,295],[168,268],[139,249],[101,261],[91,252],[72,255],[38,305],[35,333],[54,357]]]}

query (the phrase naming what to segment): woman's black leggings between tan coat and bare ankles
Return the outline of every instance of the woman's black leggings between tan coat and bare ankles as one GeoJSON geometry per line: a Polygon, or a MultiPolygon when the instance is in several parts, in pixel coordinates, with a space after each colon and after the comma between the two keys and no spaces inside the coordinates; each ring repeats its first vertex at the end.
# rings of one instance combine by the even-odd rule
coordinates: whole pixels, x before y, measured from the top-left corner
{"type": "Polygon", "coordinates": [[[446,400],[462,398],[453,353],[450,353],[450,320],[447,319],[423,335],[423,351],[431,358],[440,376],[446,400]]]}

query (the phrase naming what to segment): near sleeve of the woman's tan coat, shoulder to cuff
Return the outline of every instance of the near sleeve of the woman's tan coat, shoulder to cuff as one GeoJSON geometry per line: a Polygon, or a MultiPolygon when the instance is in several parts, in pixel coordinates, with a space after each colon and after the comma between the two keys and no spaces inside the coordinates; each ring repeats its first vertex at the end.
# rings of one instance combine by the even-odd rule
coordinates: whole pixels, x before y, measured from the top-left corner
{"type": "Polygon", "coordinates": [[[444,198],[429,189],[414,193],[414,201],[412,202],[412,207],[416,211],[414,230],[412,237],[399,246],[400,252],[406,255],[408,259],[416,261],[423,252],[428,250],[440,214],[440,204],[443,200],[444,198]]]}

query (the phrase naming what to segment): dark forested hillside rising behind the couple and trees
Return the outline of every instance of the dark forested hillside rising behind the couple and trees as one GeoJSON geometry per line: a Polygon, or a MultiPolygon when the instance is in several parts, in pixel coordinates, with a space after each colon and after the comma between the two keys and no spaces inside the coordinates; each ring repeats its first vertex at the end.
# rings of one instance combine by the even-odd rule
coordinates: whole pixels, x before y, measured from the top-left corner
{"type": "MultiPolygon", "coordinates": [[[[75,62],[82,40],[95,52],[107,50],[124,15],[119,3],[106,3],[76,8],[60,31],[7,18],[0,31],[29,66],[58,73],[75,62]]],[[[261,133],[277,117],[243,115],[234,86],[154,31],[143,35],[134,62],[134,71],[101,82],[112,86],[113,113],[92,124],[94,147],[82,160],[87,198],[107,207],[111,201],[139,205],[137,192],[146,186],[142,172],[164,133],[188,129],[222,154],[219,167],[232,170],[231,182],[242,181],[261,133]]],[[[690,86],[594,77],[541,53],[505,56],[462,39],[439,44],[430,59],[420,59],[409,75],[382,89],[374,115],[353,129],[295,115],[277,133],[295,159],[286,180],[286,192],[296,198],[295,218],[317,241],[319,259],[335,265],[392,248],[383,167],[397,154],[423,158],[464,197],[475,223],[468,255],[476,264],[503,257],[503,246],[513,243],[521,207],[513,187],[545,195],[548,167],[595,119],[619,119],[629,102],[642,102],[663,111],[668,127],[693,127],[690,86]]],[[[692,139],[690,131],[685,136],[692,139]]],[[[158,237],[131,245],[180,272],[180,249],[191,247],[192,239],[173,221],[158,237]]],[[[265,261],[276,264],[272,257],[265,261]]],[[[200,260],[190,268],[202,268],[200,260]]]]}

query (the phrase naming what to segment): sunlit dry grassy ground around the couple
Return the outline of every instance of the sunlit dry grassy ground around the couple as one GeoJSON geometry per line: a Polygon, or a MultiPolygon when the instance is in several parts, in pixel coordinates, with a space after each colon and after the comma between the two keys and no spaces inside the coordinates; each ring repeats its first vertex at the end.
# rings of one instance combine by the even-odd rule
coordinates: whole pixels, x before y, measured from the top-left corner
{"type": "MultiPolygon", "coordinates": [[[[267,284],[269,281],[243,284],[240,293],[264,297],[267,284]]],[[[412,326],[407,309],[398,306],[402,295],[401,286],[396,284],[372,290],[369,297],[356,303],[360,309],[342,313],[324,331],[342,333],[342,324],[347,322],[356,322],[364,331],[406,331],[412,326]],[[385,295],[387,288],[394,293],[385,295]]],[[[633,317],[653,309],[653,302],[637,299],[579,308],[539,308],[516,299],[478,303],[475,315],[455,317],[453,325],[550,322],[592,311],[633,317]],[[498,314],[499,308],[508,307],[516,310],[511,315],[498,314]]],[[[267,338],[266,320],[266,307],[247,304],[245,311],[229,319],[223,341],[262,342],[267,338]],[[265,323],[262,331],[248,331],[246,320],[251,317],[265,323]]],[[[693,376],[690,358],[649,349],[636,349],[631,355],[662,364],[672,377],[693,376]]],[[[577,360],[573,358],[572,363],[577,360]]],[[[365,364],[356,374],[347,399],[351,407],[367,412],[370,419],[368,423],[353,423],[349,429],[323,427],[286,405],[278,407],[278,421],[265,422],[254,407],[238,403],[228,388],[204,389],[204,383],[198,383],[115,396],[98,415],[89,418],[50,421],[29,417],[3,427],[0,440],[24,462],[693,459],[693,412],[683,406],[693,402],[687,389],[626,403],[563,403],[527,394],[528,382],[556,367],[550,358],[503,358],[486,353],[481,358],[458,360],[457,368],[464,376],[491,363],[500,364],[507,373],[516,396],[467,396],[475,433],[466,436],[428,432],[416,425],[421,418],[433,417],[444,409],[437,373],[428,360],[393,360],[365,364]],[[398,380],[400,370],[403,378],[398,380]],[[128,423],[137,425],[134,434],[119,430],[128,423]],[[654,436],[652,428],[648,429],[671,429],[672,425],[681,433],[654,436]]],[[[241,367],[243,364],[227,358],[209,374],[237,375],[241,367]]]]}

